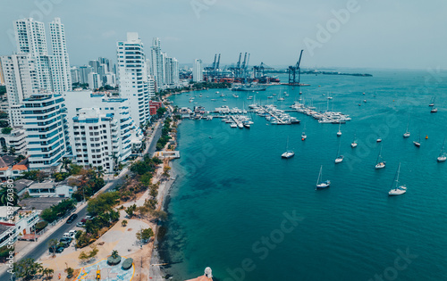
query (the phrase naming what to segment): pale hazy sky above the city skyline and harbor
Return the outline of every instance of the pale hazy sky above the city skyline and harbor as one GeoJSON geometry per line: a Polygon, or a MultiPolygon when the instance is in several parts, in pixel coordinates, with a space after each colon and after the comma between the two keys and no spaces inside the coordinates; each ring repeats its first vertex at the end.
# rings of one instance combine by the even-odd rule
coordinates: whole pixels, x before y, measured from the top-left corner
{"type": "Polygon", "coordinates": [[[72,65],[116,61],[116,42],[138,32],[180,63],[447,69],[447,1],[430,0],[0,0],[0,55],[16,51],[13,21],[60,17],[72,65]]]}

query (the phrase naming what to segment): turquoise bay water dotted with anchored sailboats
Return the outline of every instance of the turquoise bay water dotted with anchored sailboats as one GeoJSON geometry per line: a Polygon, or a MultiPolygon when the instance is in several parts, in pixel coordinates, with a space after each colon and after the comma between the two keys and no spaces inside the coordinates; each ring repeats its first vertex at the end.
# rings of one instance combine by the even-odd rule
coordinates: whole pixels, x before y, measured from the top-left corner
{"type": "MultiPolygon", "coordinates": [[[[338,125],[298,112],[291,115],[301,123],[291,126],[267,125],[256,115],[250,129],[218,119],[182,121],[181,159],[173,161],[180,177],[160,245],[173,280],[198,277],[206,267],[216,280],[228,281],[447,278],[447,162],[436,162],[447,136],[447,73],[343,71],[374,76],[303,75],[301,81],[311,86],[301,87],[302,95],[299,87],[287,86],[249,93],[283,109],[301,97],[317,109],[349,114],[340,137],[338,125]],[[283,102],[278,95],[266,98],[284,92],[290,96],[283,102]],[[333,96],[329,103],[327,95],[333,96]],[[437,113],[428,107],[433,96],[437,113]],[[408,121],[411,136],[404,139],[408,121]],[[354,135],[358,147],[352,149],[354,135]],[[417,148],[412,142],[419,135],[417,148]],[[375,142],[378,136],[382,144],[375,142]],[[283,160],[288,138],[296,155],[283,160]],[[345,159],[334,164],[339,145],[345,159]],[[381,145],[387,165],[376,170],[381,145]],[[389,197],[400,162],[400,183],[408,191],[389,197]],[[316,191],[321,165],[332,185],[316,191]]],[[[253,103],[247,94],[235,98],[229,90],[208,90],[191,93],[198,104],[186,94],[171,100],[208,110],[224,104],[247,108],[253,103]],[[227,94],[227,101],[215,91],[227,94]]]]}

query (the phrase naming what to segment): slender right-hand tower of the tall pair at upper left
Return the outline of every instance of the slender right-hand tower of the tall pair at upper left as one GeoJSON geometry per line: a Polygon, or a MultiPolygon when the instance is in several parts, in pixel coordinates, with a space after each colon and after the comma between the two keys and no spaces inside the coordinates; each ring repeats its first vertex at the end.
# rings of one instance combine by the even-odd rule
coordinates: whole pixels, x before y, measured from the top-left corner
{"type": "Polygon", "coordinates": [[[70,60],[65,42],[65,29],[60,18],[50,22],[51,47],[53,55],[50,56],[53,91],[57,94],[72,90],[72,74],[70,60]]]}

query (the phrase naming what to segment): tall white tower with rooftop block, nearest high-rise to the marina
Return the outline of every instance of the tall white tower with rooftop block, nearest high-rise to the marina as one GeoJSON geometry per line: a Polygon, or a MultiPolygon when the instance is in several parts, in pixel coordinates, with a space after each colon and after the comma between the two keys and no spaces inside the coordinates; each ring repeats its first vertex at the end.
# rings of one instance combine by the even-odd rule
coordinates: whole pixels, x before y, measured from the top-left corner
{"type": "Polygon", "coordinates": [[[120,95],[129,100],[131,117],[138,126],[150,119],[148,65],[138,33],[128,32],[127,41],[117,43],[120,95]]]}

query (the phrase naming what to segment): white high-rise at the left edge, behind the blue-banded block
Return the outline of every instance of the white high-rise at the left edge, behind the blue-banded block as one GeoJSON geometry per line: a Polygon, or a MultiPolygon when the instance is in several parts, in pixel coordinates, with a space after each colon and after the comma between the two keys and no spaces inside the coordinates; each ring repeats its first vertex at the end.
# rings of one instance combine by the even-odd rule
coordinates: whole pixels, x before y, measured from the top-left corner
{"type": "Polygon", "coordinates": [[[10,126],[21,126],[21,103],[31,95],[38,94],[36,63],[30,54],[12,54],[0,58],[6,93],[10,126]]]}

